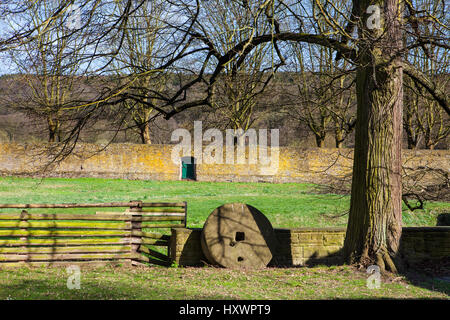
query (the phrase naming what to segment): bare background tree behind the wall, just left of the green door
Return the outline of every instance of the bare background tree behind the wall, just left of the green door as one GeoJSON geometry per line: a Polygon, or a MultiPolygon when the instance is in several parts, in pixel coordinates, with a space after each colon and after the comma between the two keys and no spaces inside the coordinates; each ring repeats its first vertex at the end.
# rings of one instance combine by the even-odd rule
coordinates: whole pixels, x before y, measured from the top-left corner
{"type": "MultiPolygon", "coordinates": [[[[124,4],[119,4],[120,12],[124,11],[124,4]]],[[[125,128],[133,128],[143,144],[151,144],[151,121],[158,113],[154,107],[156,99],[165,90],[168,75],[152,74],[157,67],[158,57],[164,52],[165,1],[151,1],[136,8],[133,16],[128,20],[124,31],[124,43],[115,64],[119,79],[135,77],[127,93],[138,99],[125,99],[120,108],[129,113],[126,123],[120,123],[125,128]],[[128,123],[128,119],[132,121],[128,123]]],[[[123,80],[121,80],[123,81],[123,80]]]]}

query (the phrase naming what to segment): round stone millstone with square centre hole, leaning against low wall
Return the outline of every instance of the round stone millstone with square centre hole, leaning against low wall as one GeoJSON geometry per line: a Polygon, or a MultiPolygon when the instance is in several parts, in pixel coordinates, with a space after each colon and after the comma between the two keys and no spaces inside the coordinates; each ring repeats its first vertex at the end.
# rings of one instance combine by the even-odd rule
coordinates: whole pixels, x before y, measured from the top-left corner
{"type": "Polygon", "coordinates": [[[270,221],[261,211],[243,203],[228,203],[209,215],[201,244],[212,264],[260,269],[272,260],[277,240],[270,221]]]}

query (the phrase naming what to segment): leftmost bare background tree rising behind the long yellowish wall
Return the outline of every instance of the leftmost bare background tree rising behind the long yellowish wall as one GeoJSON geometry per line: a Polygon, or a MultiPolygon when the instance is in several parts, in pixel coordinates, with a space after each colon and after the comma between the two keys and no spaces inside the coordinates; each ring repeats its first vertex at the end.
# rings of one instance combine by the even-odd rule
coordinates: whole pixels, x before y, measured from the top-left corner
{"type": "MultiPolygon", "coordinates": [[[[55,1],[46,0],[29,7],[21,16],[33,26],[36,36],[9,51],[10,60],[21,74],[14,81],[24,86],[16,88],[20,93],[9,96],[12,99],[4,95],[9,107],[45,122],[49,142],[61,141],[63,122],[70,120],[68,109],[83,92],[82,81],[77,77],[77,59],[82,54],[77,47],[82,37],[62,23],[67,18],[64,15],[57,19],[60,27],[42,30],[46,17],[56,8],[55,1]]],[[[10,24],[17,27],[14,21],[10,24]]]]}

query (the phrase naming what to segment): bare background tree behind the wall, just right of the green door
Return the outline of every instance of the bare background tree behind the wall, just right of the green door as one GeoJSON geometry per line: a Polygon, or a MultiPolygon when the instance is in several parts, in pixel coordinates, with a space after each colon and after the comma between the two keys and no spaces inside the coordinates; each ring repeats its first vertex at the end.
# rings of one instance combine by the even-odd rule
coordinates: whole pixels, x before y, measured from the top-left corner
{"type": "MultiPolygon", "coordinates": [[[[204,4],[202,28],[216,52],[224,54],[243,40],[267,31],[264,19],[253,15],[256,6],[258,1],[248,1],[247,7],[224,0],[204,4]]],[[[206,109],[213,114],[215,124],[235,131],[252,126],[258,97],[278,67],[271,64],[270,54],[269,46],[261,45],[242,61],[230,61],[224,67],[212,85],[211,108],[206,109]]]]}

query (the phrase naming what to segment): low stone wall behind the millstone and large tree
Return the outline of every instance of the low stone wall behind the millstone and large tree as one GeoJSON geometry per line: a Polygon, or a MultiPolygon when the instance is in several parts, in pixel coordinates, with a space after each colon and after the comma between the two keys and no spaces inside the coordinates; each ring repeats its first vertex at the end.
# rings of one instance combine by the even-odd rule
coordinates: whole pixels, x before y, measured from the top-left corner
{"type": "MultiPolygon", "coordinates": [[[[271,265],[308,266],[342,263],[345,228],[275,229],[279,242],[271,265]]],[[[200,244],[201,229],[172,229],[170,257],[182,266],[206,262],[200,244]]],[[[450,227],[405,227],[400,254],[414,264],[450,257],[450,227]]]]}

